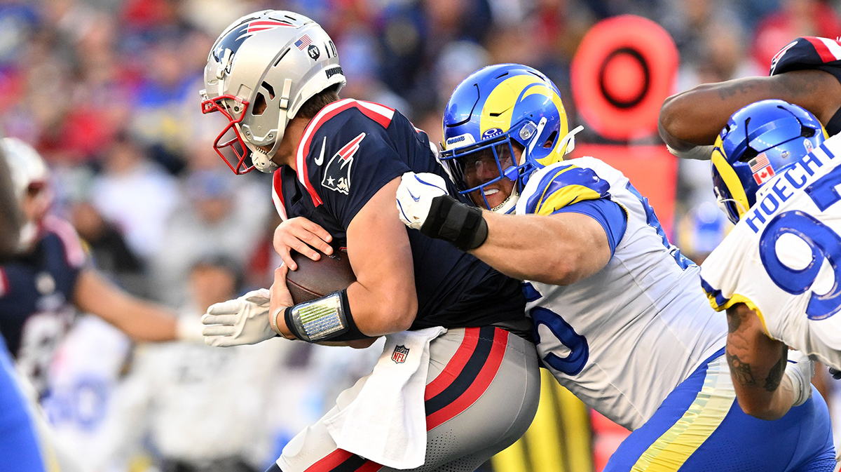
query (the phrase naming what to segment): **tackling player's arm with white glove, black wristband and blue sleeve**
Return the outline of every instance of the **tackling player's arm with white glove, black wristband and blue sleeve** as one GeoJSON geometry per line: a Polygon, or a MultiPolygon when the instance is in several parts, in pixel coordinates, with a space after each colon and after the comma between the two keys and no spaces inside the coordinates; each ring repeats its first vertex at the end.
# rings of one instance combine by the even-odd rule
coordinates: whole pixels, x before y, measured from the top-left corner
{"type": "Polygon", "coordinates": [[[500,215],[459,203],[434,174],[406,172],[398,214],[410,228],[450,241],[510,277],[574,284],[610,261],[627,215],[591,169],[558,167],[544,177],[550,177],[541,180],[545,190],[528,200],[526,215],[500,215]]]}

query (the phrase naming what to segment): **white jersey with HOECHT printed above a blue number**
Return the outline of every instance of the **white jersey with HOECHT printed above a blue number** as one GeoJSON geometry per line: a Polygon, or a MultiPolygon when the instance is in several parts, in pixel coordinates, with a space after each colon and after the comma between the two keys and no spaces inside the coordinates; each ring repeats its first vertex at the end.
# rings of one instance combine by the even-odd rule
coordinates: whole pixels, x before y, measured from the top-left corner
{"type": "Polygon", "coordinates": [[[701,269],[717,310],[744,303],[770,337],[841,369],[841,137],[759,189],[701,269]]]}

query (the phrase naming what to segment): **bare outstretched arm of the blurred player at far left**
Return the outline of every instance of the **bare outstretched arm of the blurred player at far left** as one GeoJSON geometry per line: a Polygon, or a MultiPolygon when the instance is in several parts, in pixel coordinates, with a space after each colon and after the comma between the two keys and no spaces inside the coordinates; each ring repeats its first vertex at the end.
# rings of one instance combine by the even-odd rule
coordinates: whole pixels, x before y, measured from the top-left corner
{"type": "MultiPolygon", "coordinates": [[[[172,341],[178,337],[175,312],[125,293],[93,268],[79,272],[73,298],[79,310],[99,316],[135,341],[172,341]]],[[[198,331],[196,327],[195,337],[198,331]]]]}

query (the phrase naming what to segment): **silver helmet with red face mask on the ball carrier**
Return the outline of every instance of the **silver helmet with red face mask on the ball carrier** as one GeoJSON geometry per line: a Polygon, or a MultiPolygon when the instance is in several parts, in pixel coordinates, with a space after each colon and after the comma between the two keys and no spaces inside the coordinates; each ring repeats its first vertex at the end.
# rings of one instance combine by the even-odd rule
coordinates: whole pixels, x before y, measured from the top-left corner
{"type": "Polygon", "coordinates": [[[315,21],[275,10],[236,20],[210,50],[200,92],[202,113],[220,111],[228,119],[216,152],[237,174],[254,167],[273,172],[289,120],[333,85],[344,87],[345,76],[336,45],[315,21]]]}

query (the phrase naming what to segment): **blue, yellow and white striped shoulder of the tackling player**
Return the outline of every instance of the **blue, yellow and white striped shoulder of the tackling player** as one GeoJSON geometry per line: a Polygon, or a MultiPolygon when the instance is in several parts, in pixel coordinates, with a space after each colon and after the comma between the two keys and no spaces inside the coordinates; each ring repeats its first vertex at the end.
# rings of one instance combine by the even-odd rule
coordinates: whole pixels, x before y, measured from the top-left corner
{"type": "Polygon", "coordinates": [[[610,183],[593,169],[573,164],[558,164],[541,169],[526,186],[517,213],[552,215],[558,209],[583,200],[608,197],[610,183]]]}

